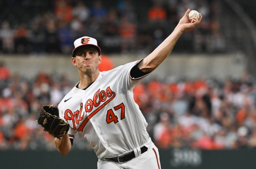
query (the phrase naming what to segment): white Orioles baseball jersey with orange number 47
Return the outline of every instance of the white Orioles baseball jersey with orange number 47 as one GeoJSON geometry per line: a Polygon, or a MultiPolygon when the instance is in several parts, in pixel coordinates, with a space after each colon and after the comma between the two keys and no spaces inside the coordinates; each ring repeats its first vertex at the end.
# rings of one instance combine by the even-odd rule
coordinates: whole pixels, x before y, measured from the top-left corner
{"type": "Polygon", "coordinates": [[[142,78],[130,76],[136,63],[99,72],[86,90],[78,89],[77,83],[58,105],[60,117],[70,124],[70,138],[82,132],[99,159],[143,145],[152,149],[147,122],[133,98],[133,88],[142,78]]]}

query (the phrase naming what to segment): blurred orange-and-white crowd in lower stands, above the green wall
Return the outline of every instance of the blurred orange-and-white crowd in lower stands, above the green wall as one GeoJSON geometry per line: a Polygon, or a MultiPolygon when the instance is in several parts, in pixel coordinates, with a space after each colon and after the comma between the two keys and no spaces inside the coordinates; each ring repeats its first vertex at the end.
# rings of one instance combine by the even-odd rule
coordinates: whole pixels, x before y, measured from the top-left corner
{"type": "MultiPolygon", "coordinates": [[[[75,83],[44,72],[32,79],[11,75],[1,63],[0,149],[56,150],[54,138],[35,120],[43,104],[58,105],[75,83]]],[[[224,81],[148,76],[135,86],[134,100],[160,148],[256,147],[256,83],[249,75],[224,81]]],[[[87,148],[76,137],[73,149],[87,148]]]]}

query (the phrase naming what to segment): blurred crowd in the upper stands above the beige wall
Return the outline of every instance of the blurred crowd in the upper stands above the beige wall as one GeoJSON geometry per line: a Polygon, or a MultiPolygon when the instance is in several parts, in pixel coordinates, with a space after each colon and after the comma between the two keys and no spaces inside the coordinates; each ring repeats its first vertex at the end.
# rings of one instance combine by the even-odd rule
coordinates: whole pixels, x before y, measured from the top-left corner
{"type": "Polygon", "coordinates": [[[224,52],[217,0],[2,0],[0,51],[71,54],[73,41],[94,37],[105,53],[149,53],[174,29],[186,9],[203,20],[175,46],[176,52],[224,52]],[[191,45],[193,44],[193,45],[191,45]]]}

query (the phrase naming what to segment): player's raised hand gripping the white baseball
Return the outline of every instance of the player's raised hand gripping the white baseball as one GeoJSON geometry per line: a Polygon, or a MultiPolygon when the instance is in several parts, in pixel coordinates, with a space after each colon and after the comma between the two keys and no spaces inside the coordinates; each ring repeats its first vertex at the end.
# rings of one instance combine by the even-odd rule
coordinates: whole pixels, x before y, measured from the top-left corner
{"type": "Polygon", "coordinates": [[[188,19],[188,14],[190,12],[190,9],[187,9],[185,15],[180,19],[179,23],[178,23],[178,27],[181,29],[182,32],[194,28],[195,26],[197,26],[201,20],[202,20],[202,15],[201,13],[199,13],[199,19],[193,17],[191,19],[191,21],[188,19]]]}

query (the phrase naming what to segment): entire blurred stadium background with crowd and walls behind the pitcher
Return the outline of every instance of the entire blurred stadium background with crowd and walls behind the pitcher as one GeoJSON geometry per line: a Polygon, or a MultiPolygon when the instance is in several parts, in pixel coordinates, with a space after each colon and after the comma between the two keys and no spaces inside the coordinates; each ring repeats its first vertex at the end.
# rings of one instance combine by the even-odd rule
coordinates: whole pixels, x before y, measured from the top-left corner
{"type": "Polygon", "coordinates": [[[134,88],[162,168],[256,168],[255,5],[0,1],[2,166],[96,168],[96,155],[81,137],[61,156],[53,137],[34,122],[43,104],[57,105],[78,81],[70,64],[73,41],[95,37],[104,55],[100,69],[112,69],[146,57],[190,8],[203,15],[200,26],[184,33],[171,55],[134,88]]]}

